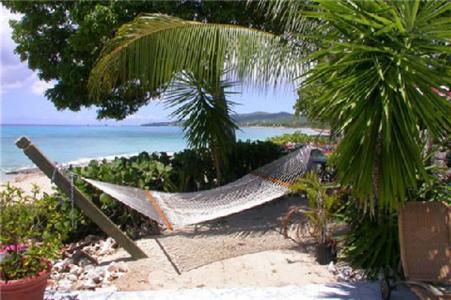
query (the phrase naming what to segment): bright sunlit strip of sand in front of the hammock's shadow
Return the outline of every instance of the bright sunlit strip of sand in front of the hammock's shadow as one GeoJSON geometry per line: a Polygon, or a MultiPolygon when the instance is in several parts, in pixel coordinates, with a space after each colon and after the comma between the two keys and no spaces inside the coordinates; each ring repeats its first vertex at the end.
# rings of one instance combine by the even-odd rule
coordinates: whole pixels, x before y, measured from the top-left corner
{"type": "Polygon", "coordinates": [[[129,262],[129,272],[114,284],[119,290],[280,287],[335,282],[327,267],[296,250],[271,250],[217,261],[180,275],[163,258],[129,262]]]}

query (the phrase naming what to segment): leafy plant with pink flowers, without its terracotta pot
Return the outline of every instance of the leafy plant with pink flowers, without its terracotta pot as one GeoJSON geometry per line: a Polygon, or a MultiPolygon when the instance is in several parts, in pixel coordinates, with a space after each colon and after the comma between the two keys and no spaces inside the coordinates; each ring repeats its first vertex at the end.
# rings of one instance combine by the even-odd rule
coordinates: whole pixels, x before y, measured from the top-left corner
{"type": "Polygon", "coordinates": [[[6,185],[0,192],[0,280],[23,279],[48,270],[58,255],[64,225],[49,195],[38,198],[6,185]]]}

